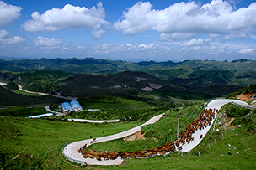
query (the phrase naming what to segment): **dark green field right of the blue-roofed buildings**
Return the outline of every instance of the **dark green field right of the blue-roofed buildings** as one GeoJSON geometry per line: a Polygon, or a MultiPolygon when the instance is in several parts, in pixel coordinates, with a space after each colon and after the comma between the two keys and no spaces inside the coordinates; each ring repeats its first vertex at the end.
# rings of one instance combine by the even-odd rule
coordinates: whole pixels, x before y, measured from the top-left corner
{"type": "Polygon", "coordinates": [[[90,98],[82,100],[80,103],[83,106],[83,111],[79,113],[71,112],[65,118],[147,121],[152,116],[161,114],[167,108],[164,106],[150,106],[146,102],[115,96],[103,96],[100,99],[90,98]],[[100,109],[100,111],[88,111],[88,109],[100,109]]]}

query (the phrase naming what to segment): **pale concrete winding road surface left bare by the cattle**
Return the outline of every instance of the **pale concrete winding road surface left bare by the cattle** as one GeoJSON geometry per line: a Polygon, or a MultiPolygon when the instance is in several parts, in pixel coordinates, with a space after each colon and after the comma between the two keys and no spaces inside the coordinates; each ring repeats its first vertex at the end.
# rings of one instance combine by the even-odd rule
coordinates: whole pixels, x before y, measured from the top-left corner
{"type": "MultiPolygon", "coordinates": [[[[207,106],[205,106],[205,109],[212,109],[212,110],[220,110],[221,106],[226,105],[227,103],[232,102],[234,104],[237,104],[239,106],[245,106],[245,107],[249,107],[249,108],[253,108],[252,106],[249,106],[248,103],[241,101],[241,100],[228,100],[228,99],[216,99],[216,100],[211,100],[210,103],[208,103],[207,106]]],[[[215,112],[215,117],[217,115],[217,112],[215,112]]],[[[158,116],[154,116],[152,117],[152,119],[150,119],[149,121],[147,121],[146,123],[142,124],[141,126],[146,126],[148,124],[152,124],[155,123],[156,121],[158,121],[161,117],[163,116],[163,114],[158,115],[158,116]]],[[[202,129],[202,130],[198,130],[195,131],[195,133],[192,135],[192,137],[194,137],[194,141],[189,142],[189,143],[185,143],[182,147],[181,152],[189,152],[191,151],[194,147],[196,147],[201,140],[205,137],[206,133],[211,129],[211,126],[213,125],[215,119],[213,121],[211,121],[210,126],[207,126],[206,128],[202,129]],[[200,138],[200,135],[203,135],[202,138],[200,138]]],[[[96,139],[96,141],[94,143],[97,142],[106,142],[106,141],[110,141],[110,140],[114,140],[114,139],[119,139],[119,138],[123,138],[123,137],[127,137],[130,136],[138,131],[141,131],[141,126],[136,126],[134,128],[132,128],[131,130],[128,131],[124,131],[115,135],[111,135],[108,137],[99,137],[96,139]]],[[[87,143],[87,146],[91,145],[92,139],[87,139],[87,140],[83,140],[83,141],[79,141],[79,142],[72,142],[71,144],[68,144],[67,146],[65,146],[63,148],[63,155],[65,157],[67,157],[67,159],[69,159],[72,162],[77,162],[77,163],[83,163],[83,162],[87,162],[88,165],[120,165],[123,162],[123,159],[121,159],[120,157],[118,157],[115,160],[103,160],[103,161],[98,161],[97,159],[91,159],[91,158],[84,158],[82,156],[82,154],[80,154],[79,152],[77,152],[77,150],[80,147],[83,147],[83,145],[85,143],[87,143]]]]}

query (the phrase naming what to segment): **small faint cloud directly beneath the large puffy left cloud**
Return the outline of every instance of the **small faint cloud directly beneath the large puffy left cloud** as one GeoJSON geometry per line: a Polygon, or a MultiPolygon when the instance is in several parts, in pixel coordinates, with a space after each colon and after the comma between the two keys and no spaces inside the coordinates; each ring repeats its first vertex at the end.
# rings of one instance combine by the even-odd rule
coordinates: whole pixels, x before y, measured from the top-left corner
{"type": "Polygon", "coordinates": [[[38,36],[36,39],[34,39],[35,46],[40,46],[43,48],[57,48],[61,45],[63,42],[62,39],[48,39],[41,36],[38,36]]]}

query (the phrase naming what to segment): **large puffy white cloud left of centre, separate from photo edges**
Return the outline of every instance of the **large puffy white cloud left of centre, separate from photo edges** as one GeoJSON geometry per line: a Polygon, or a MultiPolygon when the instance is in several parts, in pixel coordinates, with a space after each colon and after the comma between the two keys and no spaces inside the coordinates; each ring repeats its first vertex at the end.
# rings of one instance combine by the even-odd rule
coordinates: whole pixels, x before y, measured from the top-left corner
{"type": "Polygon", "coordinates": [[[107,24],[104,20],[105,11],[102,3],[97,4],[97,8],[75,7],[70,4],[64,8],[52,8],[40,14],[34,12],[32,20],[24,23],[23,27],[29,32],[49,32],[58,29],[92,29],[93,37],[100,39],[104,30],[101,25],[107,24]]]}

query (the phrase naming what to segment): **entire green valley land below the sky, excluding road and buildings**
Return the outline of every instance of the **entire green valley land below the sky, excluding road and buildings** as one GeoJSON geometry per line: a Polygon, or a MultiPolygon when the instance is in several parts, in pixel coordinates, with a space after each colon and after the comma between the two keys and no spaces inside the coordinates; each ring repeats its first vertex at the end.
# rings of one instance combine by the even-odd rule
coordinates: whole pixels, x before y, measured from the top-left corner
{"type": "MultiPolygon", "coordinates": [[[[61,154],[65,144],[95,137],[104,139],[141,126],[152,117],[165,113],[154,124],[141,127],[139,132],[143,140],[116,138],[96,142],[88,147],[87,152],[131,152],[160,147],[176,139],[176,116],[181,116],[179,132],[182,132],[200,115],[205,103],[216,97],[232,100],[251,97],[247,102],[252,107],[255,100],[255,61],[251,60],[125,63],[91,58],[39,59],[26,60],[23,70],[19,69],[24,62],[22,60],[15,61],[15,67],[12,61],[1,62],[8,64],[0,71],[0,129],[3,139],[0,166],[6,169],[83,168],[61,154]],[[36,67],[35,61],[40,67],[36,67]],[[44,63],[40,63],[43,61],[44,67],[44,63]],[[63,68],[66,64],[71,69],[70,64],[76,65],[77,71],[60,70],[56,61],[63,68]],[[98,70],[89,70],[97,68],[97,64],[101,65],[98,70]],[[80,67],[87,68],[87,71],[79,70],[80,67]],[[19,90],[18,85],[23,90],[19,90]],[[69,101],[68,96],[77,97],[83,111],[39,119],[26,118],[48,113],[45,107],[62,112],[61,103],[69,101]],[[90,121],[71,121],[76,119],[90,121]],[[119,121],[96,123],[103,120],[119,121]]],[[[147,159],[130,157],[115,168],[159,169],[159,163],[163,164],[161,169],[253,167],[256,148],[251,143],[256,139],[255,110],[231,103],[218,109],[214,126],[209,127],[200,144],[190,152],[181,154],[176,151],[147,159]],[[225,165],[217,163],[220,161],[225,165]]],[[[86,168],[113,167],[88,165],[86,168]]]]}

